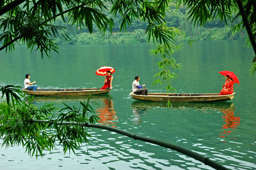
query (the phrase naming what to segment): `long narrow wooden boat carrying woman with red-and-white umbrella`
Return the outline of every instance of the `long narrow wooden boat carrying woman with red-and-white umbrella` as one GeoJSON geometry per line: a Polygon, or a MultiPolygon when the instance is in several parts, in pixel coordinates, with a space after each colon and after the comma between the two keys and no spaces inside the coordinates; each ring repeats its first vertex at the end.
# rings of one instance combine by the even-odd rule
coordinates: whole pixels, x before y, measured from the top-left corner
{"type": "Polygon", "coordinates": [[[100,88],[91,89],[37,89],[36,91],[22,89],[27,95],[34,96],[86,96],[107,94],[111,89],[101,90],[100,88]]]}

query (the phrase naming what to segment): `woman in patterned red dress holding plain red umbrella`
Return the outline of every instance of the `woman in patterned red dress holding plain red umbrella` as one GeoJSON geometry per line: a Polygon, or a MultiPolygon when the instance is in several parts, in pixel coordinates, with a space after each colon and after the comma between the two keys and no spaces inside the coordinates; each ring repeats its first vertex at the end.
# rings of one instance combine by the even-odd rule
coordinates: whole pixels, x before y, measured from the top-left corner
{"type": "Polygon", "coordinates": [[[222,90],[220,92],[220,96],[222,95],[230,95],[234,92],[234,83],[238,83],[239,81],[236,77],[236,75],[233,72],[230,71],[222,71],[219,72],[222,75],[225,75],[226,81],[225,84],[222,87],[222,90]]]}

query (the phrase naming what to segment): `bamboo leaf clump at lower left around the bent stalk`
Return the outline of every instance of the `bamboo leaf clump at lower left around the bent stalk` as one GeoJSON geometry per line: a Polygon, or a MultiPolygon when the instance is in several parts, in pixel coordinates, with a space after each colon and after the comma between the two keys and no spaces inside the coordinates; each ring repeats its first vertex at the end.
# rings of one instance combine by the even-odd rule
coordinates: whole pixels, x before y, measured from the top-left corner
{"type": "MultiPolygon", "coordinates": [[[[1,92],[15,100],[17,96],[13,97],[13,94],[20,91],[15,86],[4,86],[1,92]]],[[[86,102],[80,102],[81,108],[63,103],[65,108],[57,113],[53,103],[37,108],[33,105],[33,97],[25,101],[18,96],[17,100],[19,103],[0,103],[2,147],[21,145],[31,157],[43,156],[44,150],[52,151],[57,143],[63,146],[64,153],[75,153],[77,146],[89,143],[86,123],[99,123],[95,114],[88,115],[89,112],[94,113],[90,97],[86,102]]]]}

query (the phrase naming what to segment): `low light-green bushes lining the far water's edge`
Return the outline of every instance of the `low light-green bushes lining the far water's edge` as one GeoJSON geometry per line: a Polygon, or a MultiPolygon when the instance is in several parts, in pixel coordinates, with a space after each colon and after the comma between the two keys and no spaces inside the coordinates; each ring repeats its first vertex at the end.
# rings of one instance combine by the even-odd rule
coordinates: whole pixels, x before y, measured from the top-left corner
{"type": "MultiPolygon", "coordinates": [[[[193,35],[186,34],[181,36],[176,36],[176,41],[187,41],[188,39],[193,41],[204,41],[204,40],[236,40],[236,39],[245,39],[247,37],[246,33],[242,30],[240,32],[235,32],[231,30],[231,27],[214,27],[214,28],[205,28],[197,27],[195,29],[192,27],[193,31],[196,33],[193,35]]],[[[182,29],[181,29],[182,30],[182,29]]],[[[106,32],[103,35],[100,32],[95,33],[79,33],[76,35],[69,36],[72,41],[66,41],[64,38],[58,38],[57,44],[108,44],[108,43],[146,43],[147,35],[145,34],[144,29],[135,29],[132,32],[116,32],[110,34],[106,32]]]]}

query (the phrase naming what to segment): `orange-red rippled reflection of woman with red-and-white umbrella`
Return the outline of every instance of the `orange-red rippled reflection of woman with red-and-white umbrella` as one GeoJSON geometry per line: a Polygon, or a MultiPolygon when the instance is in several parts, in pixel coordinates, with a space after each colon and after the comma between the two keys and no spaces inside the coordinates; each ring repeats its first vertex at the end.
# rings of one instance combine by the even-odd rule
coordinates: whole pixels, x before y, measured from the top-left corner
{"type": "Polygon", "coordinates": [[[103,101],[103,104],[99,104],[99,107],[95,110],[96,114],[100,118],[100,124],[117,127],[115,125],[118,122],[118,117],[116,116],[112,96],[109,95],[108,97],[102,97],[101,100],[103,101]]]}

